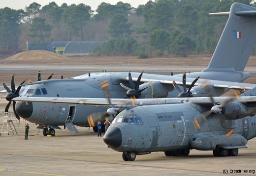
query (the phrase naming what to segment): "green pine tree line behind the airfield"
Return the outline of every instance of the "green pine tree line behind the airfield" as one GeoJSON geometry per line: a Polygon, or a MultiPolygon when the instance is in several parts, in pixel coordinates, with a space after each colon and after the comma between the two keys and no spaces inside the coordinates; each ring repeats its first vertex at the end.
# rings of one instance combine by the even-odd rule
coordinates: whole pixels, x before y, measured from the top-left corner
{"type": "Polygon", "coordinates": [[[26,41],[45,47],[52,41],[104,40],[97,55],[182,55],[214,52],[233,2],[254,0],[149,0],[133,8],[122,1],[90,6],[45,6],[33,2],[24,10],[0,9],[0,50],[24,49],[26,41]]]}

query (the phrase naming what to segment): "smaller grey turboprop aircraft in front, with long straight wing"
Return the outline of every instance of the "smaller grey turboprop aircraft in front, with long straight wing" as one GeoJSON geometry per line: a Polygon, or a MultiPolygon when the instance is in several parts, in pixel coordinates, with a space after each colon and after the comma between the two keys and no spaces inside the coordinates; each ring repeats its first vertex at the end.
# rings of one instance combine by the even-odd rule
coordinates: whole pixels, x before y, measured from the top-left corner
{"type": "MultiPolygon", "coordinates": [[[[256,88],[240,97],[161,99],[77,99],[18,97],[14,101],[107,105],[120,112],[103,140],[125,161],[136,155],[164,151],[187,156],[190,150],[213,151],[214,156],[236,156],[256,137],[256,88]],[[249,96],[254,95],[254,96],[249,96]],[[131,103],[138,105],[130,105],[131,103]],[[112,105],[109,105],[112,104],[112,105]]],[[[113,115],[113,110],[109,111],[113,115]]]]}

